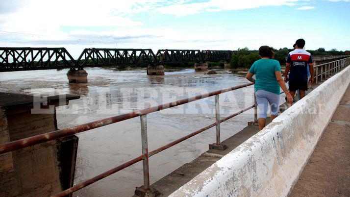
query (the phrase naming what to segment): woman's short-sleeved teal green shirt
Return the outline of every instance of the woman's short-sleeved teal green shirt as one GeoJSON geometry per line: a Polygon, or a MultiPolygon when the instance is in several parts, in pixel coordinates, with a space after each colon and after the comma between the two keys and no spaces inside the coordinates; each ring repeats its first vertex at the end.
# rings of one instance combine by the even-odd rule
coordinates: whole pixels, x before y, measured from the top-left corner
{"type": "Polygon", "coordinates": [[[259,59],[253,63],[249,72],[255,74],[255,92],[265,90],[279,95],[280,89],[275,72],[281,71],[279,62],[274,59],[259,59]]]}

